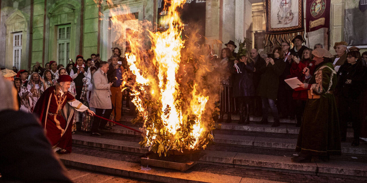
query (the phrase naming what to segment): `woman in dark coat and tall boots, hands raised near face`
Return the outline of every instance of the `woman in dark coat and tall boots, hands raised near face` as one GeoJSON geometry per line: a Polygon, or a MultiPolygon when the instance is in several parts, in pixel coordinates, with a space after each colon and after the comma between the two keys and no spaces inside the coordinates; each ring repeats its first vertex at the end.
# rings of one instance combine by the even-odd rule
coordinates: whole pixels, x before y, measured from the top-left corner
{"type": "Polygon", "coordinates": [[[250,107],[251,96],[255,96],[255,87],[252,82],[254,71],[254,62],[249,57],[248,51],[244,51],[237,55],[240,61],[235,61],[233,69],[233,94],[239,104],[240,120],[238,124],[250,123],[250,107]],[[246,117],[245,117],[246,116],[246,117]]]}

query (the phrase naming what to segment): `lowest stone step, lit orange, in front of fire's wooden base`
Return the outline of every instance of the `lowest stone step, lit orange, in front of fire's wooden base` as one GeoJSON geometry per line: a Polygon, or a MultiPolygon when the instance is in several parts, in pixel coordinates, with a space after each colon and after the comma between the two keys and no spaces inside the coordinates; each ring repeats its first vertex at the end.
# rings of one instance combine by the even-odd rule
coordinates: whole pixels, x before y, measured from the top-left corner
{"type": "Polygon", "coordinates": [[[243,178],[240,176],[218,175],[216,173],[206,173],[197,171],[186,171],[182,173],[166,168],[150,167],[144,170],[139,163],[112,160],[107,158],[87,156],[84,154],[72,153],[60,155],[62,163],[66,166],[88,169],[112,175],[144,179],[157,182],[180,182],[180,183],[277,183],[276,181],[243,178]]]}

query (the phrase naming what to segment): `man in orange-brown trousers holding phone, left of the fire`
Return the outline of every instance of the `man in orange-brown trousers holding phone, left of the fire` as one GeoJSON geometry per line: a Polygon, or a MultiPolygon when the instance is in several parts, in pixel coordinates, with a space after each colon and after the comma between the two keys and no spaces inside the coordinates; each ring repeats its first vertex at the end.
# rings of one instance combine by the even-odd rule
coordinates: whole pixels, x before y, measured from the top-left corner
{"type": "Polygon", "coordinates": [[[121,66],[121,61],[119,61],[119,56],[116,54],[112,55],[111,65],[107,71],[108,82],[112,83],[111,86],[111,102],[115,107],[112,111],[113,116],[115,117],[115,121],[118,122],[121,120],[121,107],[122,107],[122,72],[124,71],[124,67],[121,66]]]}

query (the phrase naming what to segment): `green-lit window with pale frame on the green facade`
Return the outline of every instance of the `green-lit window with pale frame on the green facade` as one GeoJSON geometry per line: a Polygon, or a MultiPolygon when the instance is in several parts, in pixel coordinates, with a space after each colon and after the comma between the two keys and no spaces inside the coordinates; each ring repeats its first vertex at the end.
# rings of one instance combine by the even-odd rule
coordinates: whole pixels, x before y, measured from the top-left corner
{"type": "Polygon", "coordinates": [[[70,58],[70,30],[71,26],[58,26],[57,31],[57,61],[58,64],[67,65],[70,58]]]}

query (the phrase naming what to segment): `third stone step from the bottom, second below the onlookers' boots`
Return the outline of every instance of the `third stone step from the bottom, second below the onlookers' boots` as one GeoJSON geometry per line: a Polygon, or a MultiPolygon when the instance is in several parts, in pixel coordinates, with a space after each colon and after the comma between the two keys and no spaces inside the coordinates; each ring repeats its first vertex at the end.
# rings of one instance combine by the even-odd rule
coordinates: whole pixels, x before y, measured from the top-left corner
{"type": "MultiPolygon", "coordinates": [[[[139,127],[131,127],[131,128],[139,130],[139,127]]],[[[141,136],[140,133],[129,130],[121,126],[113,126],[111,130],[105,130],[105,131],[117,134],[141,136]]],[[[295,149],[295,146],[297,144],[297,137],[294,138],[258,137],[257,134],[254,133],[251,134],[252,136],[246,136],[246,132],[247,131],[244,131],[244,135],[229,135],[229,134],[220,134],[214,131],[214,142],[230,145],[243,145],[243,146],[292,149],[292,150],[295,149]]],[[[367,144],[360,143],[359,146],[353,147],[350,142],[342,142],[342,153],[367,155],[367,144]]]]}

